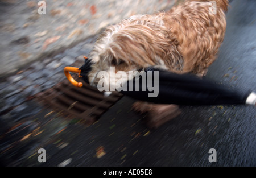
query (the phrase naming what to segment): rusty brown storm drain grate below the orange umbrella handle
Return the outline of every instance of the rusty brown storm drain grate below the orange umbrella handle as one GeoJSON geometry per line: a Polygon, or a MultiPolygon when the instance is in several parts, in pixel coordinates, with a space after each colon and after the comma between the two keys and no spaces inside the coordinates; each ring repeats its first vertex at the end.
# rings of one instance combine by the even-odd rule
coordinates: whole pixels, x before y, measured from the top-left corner
{"type": "Polygon", "coordinates": [[[61,111],[65,117],[78,118],[80,122],[91,125],[122,97],[118,92],[112,92],[105,97],[103,92],[90,87],[84,81],[77,78],[75,80],[82,82],[83,86],[77,88],[64,80],[40,93],[39,101],[53,110],[61,111]]]}

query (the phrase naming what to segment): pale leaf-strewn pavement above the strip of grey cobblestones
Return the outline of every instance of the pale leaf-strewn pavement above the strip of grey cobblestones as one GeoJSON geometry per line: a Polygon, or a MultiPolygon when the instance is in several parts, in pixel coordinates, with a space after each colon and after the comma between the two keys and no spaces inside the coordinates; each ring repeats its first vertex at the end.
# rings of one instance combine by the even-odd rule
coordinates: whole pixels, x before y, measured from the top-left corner
{"type": "Polygon", "coordinates": [[[0,1],[0,76],[71,48],[123,18],[170,9],[175,1],[45,1],[41,15],[38,2],[0,1]]]}

